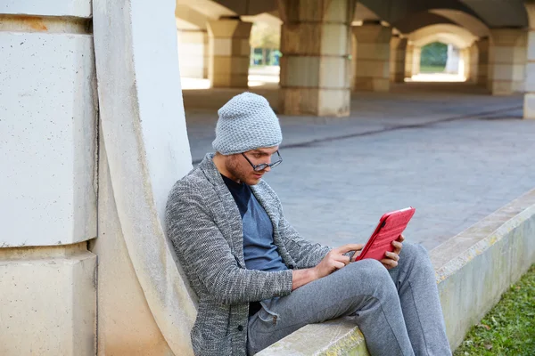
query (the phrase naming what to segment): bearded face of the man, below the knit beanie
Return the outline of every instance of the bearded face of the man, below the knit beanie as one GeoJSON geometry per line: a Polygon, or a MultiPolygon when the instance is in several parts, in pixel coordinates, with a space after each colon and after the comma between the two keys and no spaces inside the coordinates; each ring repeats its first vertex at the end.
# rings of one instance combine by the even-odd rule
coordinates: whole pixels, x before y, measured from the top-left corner
{"type": "MultiPolygon", "coordinates": [[[[271,158],[274,153],[278,150],[278,146],[268,147],[256,150],[249,150],[243,152],[253,165],[260,165],[262,163],[271,163],[271,158]]],[[[226,156],[225,167],[226,170],[232,174],[232,177],[228,177],[234,181],[244,182],[247,185],[258,184],[262,176],[268,173],[271,168],[267,167],[266,169],[256,172],[251,163],[247,162],[247,159],[243,157],[241,153],[226,156]]]]}

